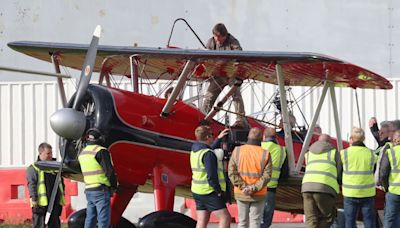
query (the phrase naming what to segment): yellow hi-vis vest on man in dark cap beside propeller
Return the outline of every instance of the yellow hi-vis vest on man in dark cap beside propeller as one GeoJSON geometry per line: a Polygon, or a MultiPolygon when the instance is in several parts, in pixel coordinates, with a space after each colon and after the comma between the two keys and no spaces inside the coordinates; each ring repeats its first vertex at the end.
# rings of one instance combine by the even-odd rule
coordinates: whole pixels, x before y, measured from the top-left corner
{"type": "Polygon", "coordinates": [[[105,147],[99,145],[88,145],[79,154],[78,160],[86,188],[95,188],[102,184],[108,187],[111,186],[103,168],[96,160],[97,152],[103,149],[106,150],[105,147]]]}

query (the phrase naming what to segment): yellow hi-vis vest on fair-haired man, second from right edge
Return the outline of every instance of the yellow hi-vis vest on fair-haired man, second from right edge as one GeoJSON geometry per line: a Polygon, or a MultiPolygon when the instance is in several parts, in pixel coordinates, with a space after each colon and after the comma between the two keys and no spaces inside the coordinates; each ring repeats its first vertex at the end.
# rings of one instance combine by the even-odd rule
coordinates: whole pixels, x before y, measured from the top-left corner
{"type": "Polygon", "coordinates": [[[343,163],[343,196],[364,198],[375,196],[375,153],[364,146],[351,146],[340,152],[343,163]]]}

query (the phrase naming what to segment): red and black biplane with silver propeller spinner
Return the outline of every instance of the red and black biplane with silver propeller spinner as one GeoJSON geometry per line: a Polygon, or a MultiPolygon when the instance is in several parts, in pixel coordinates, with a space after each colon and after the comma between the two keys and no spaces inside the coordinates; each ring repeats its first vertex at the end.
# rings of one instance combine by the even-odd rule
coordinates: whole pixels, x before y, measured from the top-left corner
{"type": "MultiPolygon", "coordinates": [[[[191,197],[189,154],[195,140],[194,129],[203,120],[208,121],[215,134],[225,126],[213,118],[223,110],[221,107],[202,113],[178,99],[190,82],[201,84],[217,76],[279,86],[285,132],[279,142],[287,147],[292,177],[280,183],[276,209],[289,212],[302,212],[303,209],[301,176],[298,174],[304,153],[315,140],[313,128],[327,91],[330,91],[335,117],[335,143],[342,149],[334,87],[392,88],[390,82],[378,74],[315,53],[98,46],[99,35],[97,30],[89,46],[29,41],[11,42],[8,46],[31,57],[53,62],[57,73],[60,73],[60,65],[74,69],[81,69],[83,65],[79,88],[69,102],[66,101],[62,78],[58,78],[64,108],[52,116],[51,122],[63,139],[62,161],[39,162],[38,165],[62,170],[65,177],[82,180],[80,168],[75,164],[84,144],[85,131],[96,127],[104,132],[120,184],[112,199],[114,225],[120,221],[137,191],[154,192],[157,211],[172,210],[175,195],[191,197]],[[92,71],[100,73],[96,85],[89,84],[92,71]],[[130,78],[133,91],[113,87],[113,75],[130,78]],[[171,96],[164,99],[139,93],[141,79],[175,80],[176,86],[171,96]],[[316,85],[323,86],[323,90],[315,115],[304,141],[293,142],[285,87],[316,85]]],[[[237,87],[233,86],[234,89],[237,87]]],[[[227,96],[229,94],[232,93],[228,92],[227,96]]],[[[262,120],[249,116],[246,119],[251,127],[265,127],[262,120]]],[[[232,130],[233,135],[236,133],[238,131],[232,130]]],[[[236,143],[240,143],[237,138],[236,143]]],[[[379,198],[381,201],[377,206],[382,208],[383,198],[379,198]]]]}

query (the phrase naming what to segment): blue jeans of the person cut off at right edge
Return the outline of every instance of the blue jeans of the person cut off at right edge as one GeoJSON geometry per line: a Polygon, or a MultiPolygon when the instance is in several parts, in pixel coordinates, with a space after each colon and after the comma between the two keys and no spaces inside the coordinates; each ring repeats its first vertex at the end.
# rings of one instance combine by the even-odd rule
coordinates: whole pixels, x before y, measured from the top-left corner
{"type": "Polygon", "coordinates": [[[400,227],[400,195],[386,193],[383,227],[400,227]]]}

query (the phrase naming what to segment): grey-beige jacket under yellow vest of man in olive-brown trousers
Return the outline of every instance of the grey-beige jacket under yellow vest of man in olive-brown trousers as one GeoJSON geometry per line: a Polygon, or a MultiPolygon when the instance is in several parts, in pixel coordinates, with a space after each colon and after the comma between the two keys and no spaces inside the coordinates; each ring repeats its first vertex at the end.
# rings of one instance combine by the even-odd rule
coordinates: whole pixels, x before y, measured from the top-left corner
{"type": "MultiPolygon", "coordinates": [[[[334,149],[334,147],[330,143],[323,142],[323,141],[317,141],[310,146],[308,153],[321,154],[323,152],[328,152],[332,149],[334,149]]],[[[338,152],[335,153],[335,162],[336,162],[336,169],[337,169],[337,180],[340,185],[342,183],[343,166],[342,166],[342,161],[340,159],[340,154],[338,152]]],[[[302,184],[301,192],[322,192],[322,193],[328,193],[335,197],[337,195],[335,189],[333,189],[332,187],[325,185],[325,184],[314,183],[314,182],[307,182],[307,183],[302,184]]]]}

